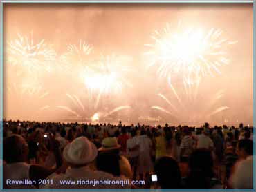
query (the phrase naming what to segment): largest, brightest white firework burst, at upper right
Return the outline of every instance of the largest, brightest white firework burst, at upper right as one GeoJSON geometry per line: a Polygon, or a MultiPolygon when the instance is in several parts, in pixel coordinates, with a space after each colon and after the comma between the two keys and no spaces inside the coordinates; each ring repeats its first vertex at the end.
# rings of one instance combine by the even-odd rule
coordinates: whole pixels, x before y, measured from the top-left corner
{"type": "Polygon", "coordinates": [[[150,50],[145,52],[149,59],[148,67],[158,66],[159,77],[179,75],[185,77],[185,84],[192,84],[206,75],[221,73],[220,67],[229,64],[225,46],[237,43],[221,39],[222,31],[210,29],[203,32],[196,28],[174,31],[167,24],[162,31],[152,35],[154,44],[146,44],[150,50]]]}

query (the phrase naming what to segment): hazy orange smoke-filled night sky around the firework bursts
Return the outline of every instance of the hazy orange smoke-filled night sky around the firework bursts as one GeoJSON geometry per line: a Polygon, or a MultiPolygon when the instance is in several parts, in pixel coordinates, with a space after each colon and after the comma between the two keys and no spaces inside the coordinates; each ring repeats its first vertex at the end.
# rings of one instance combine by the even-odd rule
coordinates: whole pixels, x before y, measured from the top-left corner
{"type": "MultiPolygon", "coordinates": [[[[38,96],[40,94],[28,95],[21,93],[19,88],[15,90],[13,84],[19,86],[23,81],[33,81],[32,75],[26,68],[22,68],[23,73],[17,75],[18,67],[5,61],[3,116],[7,119],[45,121],[73,118],[73,113],[56,106],[66,106],[84,118],[90,118],[99,111],[108,113],[118,106],[131,106],[129,110],[113,113],[109,118],[133,123],[139,117],[158,118],[173,124],[201,124],[205,120],[212,124],[253,122],[252,3],[6,3],[3,7],[3,22],[6,50],[8,42],[17,39],[17,34],[25,37],[33,31],[33,40],[39,42],[45,39],[57,52],[57,58],[67,52],[69,44],[78,45],[82,40],[93,46],[90,59],[102,55],[123,55],[129,58],[127,65],[132,68],[131,72],[124,75],[132,86],[124,86],[118,94],[103,95],[98,108],[92,110],[89,103],[84,102],[86,88],[76,78],[80,70],[75,64],[70,64],[68,72],[54,70],[50,73],[40,70],[37,75],[40,77],[39,84],[36,86],[42,87],[41,95],[48,93],[42,101],[38,96]],[[179,78],[172,80],[185,105],[183,111],[179,110],[177,113],[177,119],[151,108],[161,106],[172,111],[158,97],[158,93],[169,98],[176,108],[181,106],[168,87],[166,79],[159,79],[155,68],[145,67],[147,64],[143,53],[149,49],[145,44],[154,43],[151,36],[155,30],[161,30],[169,23],[175,31],[179,22],[182,28],[200,28],[205,33],[211,28],[220,29],[223,39],[228,38],[237,43],[226,49],[230,64],[221,66],[221,74],[214,77],[209,75],[201,80],[193,104],[186,99],[179,78]],[[223,96],[216,104],[210,106],[209,110],[201,110],[208,108],[209,101],[220,92],[223,96]],[[70,102],[66,93],[79,97],[85,109],[81,111],[70,102]],[[24,102],[24,98],[30,99],[24,102]],[[48,108],[38,112],[41,106],[48,108]],[[227,106],[228,109],[205,119],[204,113],[210,113],[221,106],[227,106]]],[[[8,53],[4,56],[8,58],[8,53]]]]}

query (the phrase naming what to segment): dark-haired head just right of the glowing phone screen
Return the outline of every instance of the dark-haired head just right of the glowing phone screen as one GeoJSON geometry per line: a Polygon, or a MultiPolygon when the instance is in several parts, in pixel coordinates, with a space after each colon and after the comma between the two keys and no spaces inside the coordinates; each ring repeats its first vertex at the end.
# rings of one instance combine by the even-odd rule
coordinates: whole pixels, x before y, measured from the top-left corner
{"type": "Polygon", "coordinates": [[[156,160],[154,171],[161,189],[181,188],[181,171],[178,163],[172,157],[164,156],[156,160]]]}

